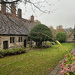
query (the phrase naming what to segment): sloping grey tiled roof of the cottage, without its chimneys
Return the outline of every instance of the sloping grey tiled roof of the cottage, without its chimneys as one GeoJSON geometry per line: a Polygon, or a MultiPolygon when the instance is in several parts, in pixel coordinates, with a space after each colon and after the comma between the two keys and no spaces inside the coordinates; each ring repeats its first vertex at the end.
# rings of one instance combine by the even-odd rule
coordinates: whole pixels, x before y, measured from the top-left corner
{"type": "Polygon", "coordinates": [[[0,14],[0,34],[28,35],[35,23],[0,14]]]}

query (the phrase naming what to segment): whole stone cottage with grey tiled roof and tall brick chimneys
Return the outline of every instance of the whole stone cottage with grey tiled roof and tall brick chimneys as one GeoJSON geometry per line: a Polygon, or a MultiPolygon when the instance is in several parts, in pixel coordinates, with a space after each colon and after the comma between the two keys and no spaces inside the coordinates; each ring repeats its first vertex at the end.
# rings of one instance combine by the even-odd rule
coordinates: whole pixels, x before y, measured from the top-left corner
{"type": "Polygon", "coordinates": [[[22,18],[22,11],[11,4],[11,13],[6,13],[6,5],[1,4],[0,11],[0,49],[26,47],[30,30],[35,26],[34,16],[30,20],[22,18]]]}

